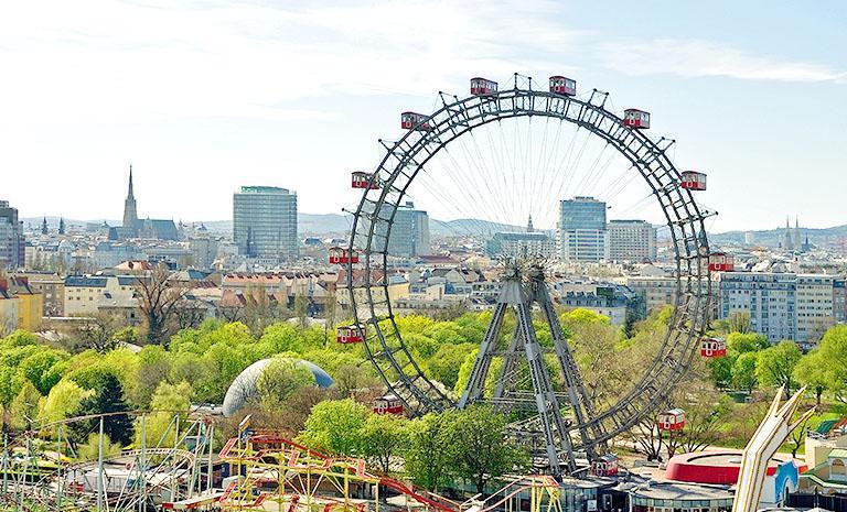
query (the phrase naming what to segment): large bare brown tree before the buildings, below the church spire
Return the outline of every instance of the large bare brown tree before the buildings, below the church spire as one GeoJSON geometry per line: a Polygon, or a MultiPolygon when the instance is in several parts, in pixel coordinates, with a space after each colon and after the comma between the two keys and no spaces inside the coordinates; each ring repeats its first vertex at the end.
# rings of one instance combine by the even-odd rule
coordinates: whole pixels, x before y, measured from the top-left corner
{"type": "Polygon", "coordinates": [[[138,308],[147,323],[147,342],[167,345],[169,322],[178,304],[189,291],[182,283],[170,280],[171,272],[163,263],[157,265],[149,275],[136,276],[138,308]]]}

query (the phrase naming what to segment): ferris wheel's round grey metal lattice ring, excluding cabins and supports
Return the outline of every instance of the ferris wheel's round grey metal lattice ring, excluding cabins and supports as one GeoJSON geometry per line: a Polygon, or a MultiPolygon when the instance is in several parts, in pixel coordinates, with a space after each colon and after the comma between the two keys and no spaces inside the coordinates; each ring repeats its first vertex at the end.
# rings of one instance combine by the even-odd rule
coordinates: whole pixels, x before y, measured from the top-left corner
{"type": "MultiPolygon", "coordinates": [[[[641,174],[664,211],[676,262],[674,315],[661,348],[637,384],[604,411],[577,417],[571,449],[591,453],[664,405],[689,369],[708,326],[710,281],[708,241],[701,209],[666,154],[671,139],[652,140],[624,126],[605,109],[608,94],[597,89],[588,99],[544,90],[514,88],[486,96],[457,98],[440,94],[442,107],[427,117],[428,130],[409,130],[386,150],[371,176],[355,213],[349,250],[360,263],[346,264],[346,284],[357,324],[366,327],[365,350],[385,384],[415,415],[457,404],[430,381],[404,344],[395,323],[389,291],[388,239],[395,213],[416,176],[452,141],[494,121],[521,117],[555,118],[575,123],[614,148],[641,174]]],[[[553,315],[555,317],[555,315],[553,315]]],[[[576,370],[578,374],[578,370],[576,370]]],[[[571,388],[572,389],[572,388],[571,388]]],[[[589,408],[589,407],[586,407],[589,408]]]]}

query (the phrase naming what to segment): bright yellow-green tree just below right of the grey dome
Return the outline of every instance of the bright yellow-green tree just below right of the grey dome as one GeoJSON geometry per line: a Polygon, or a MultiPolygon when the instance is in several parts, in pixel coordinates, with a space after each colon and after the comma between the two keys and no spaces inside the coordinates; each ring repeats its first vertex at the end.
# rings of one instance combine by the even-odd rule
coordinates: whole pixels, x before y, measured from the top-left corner
{"type": "Polygon", "coordinates": [[[321,402],[312,407],[305,421],[305,429],[298,439],[333,455],[356,455],[367,414],[364,405],[351,399],[321,402]]]}

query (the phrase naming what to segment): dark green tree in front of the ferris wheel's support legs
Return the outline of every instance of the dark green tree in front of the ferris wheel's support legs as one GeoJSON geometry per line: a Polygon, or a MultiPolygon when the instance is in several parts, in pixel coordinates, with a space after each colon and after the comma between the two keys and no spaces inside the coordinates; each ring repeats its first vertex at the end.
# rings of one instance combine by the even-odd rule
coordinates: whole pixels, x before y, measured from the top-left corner
{"type": "Polygon", "coordinates": [[[473,406],[460,411],[450,422],[455,449],[457,476],[467,478],[482,493],[485,484],[528,461],[523,451],[506,436],[506,418],[485,407],[473,406]]]}

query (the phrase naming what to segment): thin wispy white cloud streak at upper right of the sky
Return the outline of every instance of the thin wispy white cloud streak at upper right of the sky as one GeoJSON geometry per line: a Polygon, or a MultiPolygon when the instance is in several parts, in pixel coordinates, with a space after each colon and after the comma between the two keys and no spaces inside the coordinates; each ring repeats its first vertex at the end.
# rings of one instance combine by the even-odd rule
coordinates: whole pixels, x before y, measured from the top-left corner
{"type": "Polygon", "coordinates": [[[605,66],[628,75],[726,76],[748,80],[843,81],[847,73],[758,56],[707,41],[615,41],[601,44],[605,66]]]}

